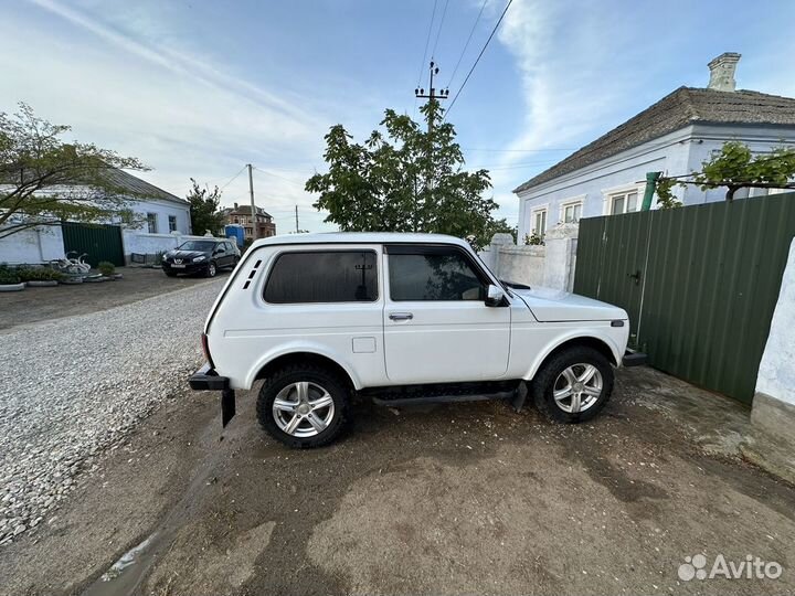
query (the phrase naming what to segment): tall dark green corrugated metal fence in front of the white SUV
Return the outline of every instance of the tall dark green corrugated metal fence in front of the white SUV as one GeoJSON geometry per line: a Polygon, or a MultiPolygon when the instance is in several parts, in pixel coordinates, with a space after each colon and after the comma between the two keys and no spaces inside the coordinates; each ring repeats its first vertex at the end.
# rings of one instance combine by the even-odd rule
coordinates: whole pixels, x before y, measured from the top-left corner
{"type": "Polygon", "coordinates": [[[653,366],[751,403],[793,236],[793,193],[585,219],[574,291],[624,308],[653,366]]]}

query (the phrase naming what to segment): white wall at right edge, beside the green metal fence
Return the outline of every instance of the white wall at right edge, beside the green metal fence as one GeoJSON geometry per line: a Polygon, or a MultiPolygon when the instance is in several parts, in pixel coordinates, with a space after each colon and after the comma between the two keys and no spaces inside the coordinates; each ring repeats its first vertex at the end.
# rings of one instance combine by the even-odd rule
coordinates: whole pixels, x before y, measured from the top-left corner
{"type": "Polygon", "coordinates": [[[776,302],[771,331],[767,336],[756,392],[795,405],[795,240],[789,245],[778,301],[776,302]]]}

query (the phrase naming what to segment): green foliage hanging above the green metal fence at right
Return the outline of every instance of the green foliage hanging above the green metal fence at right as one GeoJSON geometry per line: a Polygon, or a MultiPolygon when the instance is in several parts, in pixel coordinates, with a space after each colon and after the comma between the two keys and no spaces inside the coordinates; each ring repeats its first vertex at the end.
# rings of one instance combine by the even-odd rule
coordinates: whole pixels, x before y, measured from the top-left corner
{"type": "Polygon", "coordinates": [[[723,143],[719,153],[701,163],[700,172],[679,178],[660,177],[656,190],[662,206],[676,202],[672,194],[675,185],[687,184],[696,184],[702,191],[725,187],[725,200],[731,202],[734,193],[743,188],[795,188],[792,182],[794,175],[795,149],[778,147],[770,153],[753,155],[746,145],[729,141],[723,143]]]}

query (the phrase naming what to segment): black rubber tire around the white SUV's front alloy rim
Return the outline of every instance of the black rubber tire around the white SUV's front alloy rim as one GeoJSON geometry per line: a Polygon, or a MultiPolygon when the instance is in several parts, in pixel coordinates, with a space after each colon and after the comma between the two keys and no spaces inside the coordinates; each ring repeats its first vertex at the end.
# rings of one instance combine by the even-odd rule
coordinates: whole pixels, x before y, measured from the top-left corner
{"type": "MultiPolygon", "coordinates": [[[[594,374],[594,376],[596,375],[594,374]]],[[[596,380],[592,377],[589,382],[595,384],[596,380]]],[[[572,424],[590,421],[600,413],[613,393],[613,366],[601,352],[585,345],[575,345],[562,350],[541,365],[541,369],[533,377],[531,393],[539,411],[555,422],[572,424]],[[601,394],[583,409],[574,413],[568,412],[566,406],[576,409],[573,404],[575,397],[562,397],[559,403],[554,397],[555,383],[563,391],[565,391],[566,386],[574,387],[564,376],[565,371],[571,369],[576,376],[579,371],[585,372],[584,365],[587,364],[595,366],[601,375],[601,394]],[[569,401],[568,404],[565,403],[566,400],[569,401]]],[[[583,389],[594,390],[593,386],[583,389]]],[[[579,393],[582,401],[582,392],[573,393],[579,393]]],[[[591,397],[591,395],[585,395],[585,400],[591,397]]],[[[577,404],[581,404],[581,401],[577,401],[577,404]]]]}

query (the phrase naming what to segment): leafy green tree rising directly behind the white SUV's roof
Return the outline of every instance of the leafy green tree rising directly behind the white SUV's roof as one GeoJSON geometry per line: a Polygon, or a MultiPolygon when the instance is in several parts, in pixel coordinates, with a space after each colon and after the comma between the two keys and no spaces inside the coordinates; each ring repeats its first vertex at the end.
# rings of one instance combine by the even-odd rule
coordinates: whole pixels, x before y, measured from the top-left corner
{"type": "Polygon", "coordinates": [[[484,193],[491,187],[488,171],[464,170],[455,129],[432,100],[421,108],[427,130],[393,109],[363,143],[352,142],[342,127],[326,135],[327,173],[306,183],[319,193],[318,210],[343,232],[427,232],[457,237],[475,236],[484,246],[489,234],[508,227],[495,221],[498,207],[484,193]]]}

